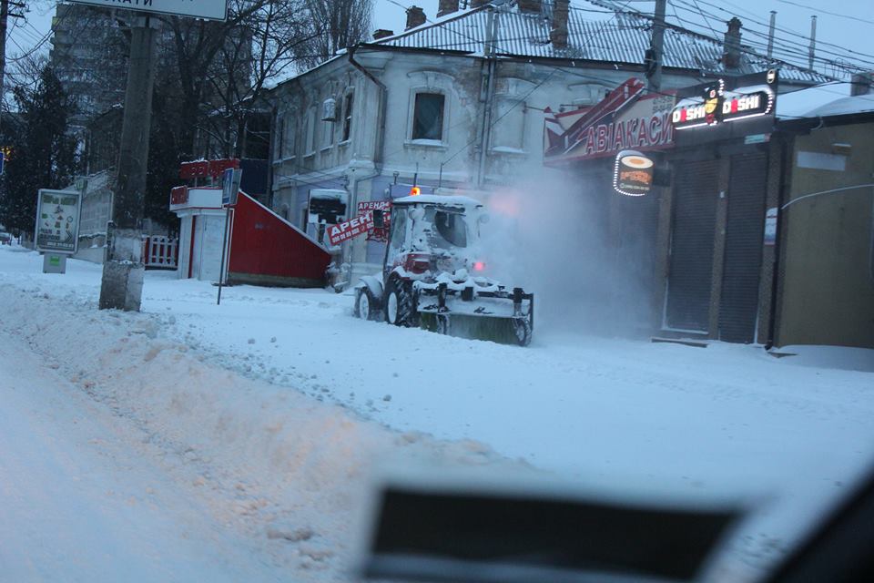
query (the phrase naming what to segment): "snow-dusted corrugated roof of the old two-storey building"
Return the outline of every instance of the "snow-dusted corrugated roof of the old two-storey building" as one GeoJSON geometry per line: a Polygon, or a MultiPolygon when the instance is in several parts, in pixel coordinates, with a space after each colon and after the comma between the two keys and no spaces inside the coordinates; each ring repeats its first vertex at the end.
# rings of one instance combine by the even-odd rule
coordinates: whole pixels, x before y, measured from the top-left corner
{"type": "MultiPolygon", "coordinates": [[[[589,4],[584,0],[576,4],[581,3],[589,4]]],[[[570,10],[566,48],[556,48],[550,42],[552,23],[543,14],[519,12],[516,6],[509,4],[460,10],[399,35],[381,38],[371,45],[484,55],[489,38],[487,25],[490,13],[493,13],[497,19],[494,53],[499,56],[555,57],[643,65],[652,34],[652,19],[646,15],[620,11],[605,13],[603,6],[592,6],[599,9],[594,12],[570,10]]],[[[788,81],[822,83],[830,80],[829,77],[798,66],[768,61],[749,46],[743,47],[737,68],[727,69],[722,63],[722,56],[723,44],[718,40],[676,26],[667,26],[666,67],[747,75],[777,66],[781,78],[788,81]]]]}

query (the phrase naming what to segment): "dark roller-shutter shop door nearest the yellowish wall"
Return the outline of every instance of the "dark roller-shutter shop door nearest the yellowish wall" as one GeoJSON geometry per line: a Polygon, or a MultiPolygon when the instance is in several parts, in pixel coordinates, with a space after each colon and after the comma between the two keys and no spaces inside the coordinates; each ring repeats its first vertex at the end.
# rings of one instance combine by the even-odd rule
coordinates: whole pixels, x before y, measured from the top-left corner
{"type": "Polygon", "coordinates": [[[729,343],[756,340],[766,179],[765,154],[731,159],[725,265],[719,302],[719,339],[729,343]]]}

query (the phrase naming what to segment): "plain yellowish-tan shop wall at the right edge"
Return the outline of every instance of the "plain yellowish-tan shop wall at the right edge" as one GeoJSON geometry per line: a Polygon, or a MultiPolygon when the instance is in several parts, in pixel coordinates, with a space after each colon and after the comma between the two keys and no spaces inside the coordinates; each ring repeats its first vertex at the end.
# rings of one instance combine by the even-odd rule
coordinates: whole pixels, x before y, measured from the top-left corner
{"type": "MultiPolygon", "coordinates": [[[[790,200],[874,182],[874,122],[813,130],[798,136],[791,151],[790,200]],[[841,149],[835,144],[850,146],[844,171],[798,168],[799,152],[835,155],[841,149]]],[[[828,160],[837,159],[821,161],[828,160]]],[[[874,348],[872,210],[868,187],[798,200],[783,211],[777,345],[874,348]]]]}

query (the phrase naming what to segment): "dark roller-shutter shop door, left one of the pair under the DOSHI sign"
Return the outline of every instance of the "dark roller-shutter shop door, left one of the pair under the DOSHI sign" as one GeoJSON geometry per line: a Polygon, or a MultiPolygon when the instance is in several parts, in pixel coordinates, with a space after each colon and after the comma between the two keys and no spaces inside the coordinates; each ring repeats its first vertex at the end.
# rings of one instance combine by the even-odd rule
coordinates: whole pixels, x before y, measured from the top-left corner
{"type": "Polygon", "coordinates": [[[665,324],[671,330],[707,332],[719,161],[685,162],[675,168],[665,324]]]}

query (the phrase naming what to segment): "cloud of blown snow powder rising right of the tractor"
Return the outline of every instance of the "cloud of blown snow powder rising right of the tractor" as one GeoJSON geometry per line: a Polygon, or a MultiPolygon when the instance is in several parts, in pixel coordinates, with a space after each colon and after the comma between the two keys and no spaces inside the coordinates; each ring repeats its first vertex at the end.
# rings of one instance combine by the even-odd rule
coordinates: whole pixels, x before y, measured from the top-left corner
{"type": "Polygon", "coordinates": [[[487,273],[534,292],[540,332],[632,335],[647,327],[652,250],[627,225],[611,232],[606,197],[619,195],[604,189],[538,176],[488,201],[487,273]]]}

